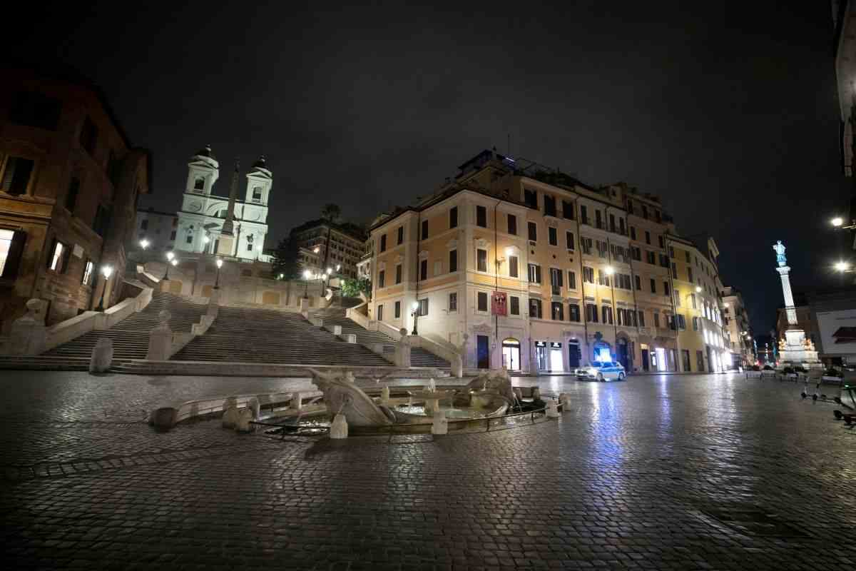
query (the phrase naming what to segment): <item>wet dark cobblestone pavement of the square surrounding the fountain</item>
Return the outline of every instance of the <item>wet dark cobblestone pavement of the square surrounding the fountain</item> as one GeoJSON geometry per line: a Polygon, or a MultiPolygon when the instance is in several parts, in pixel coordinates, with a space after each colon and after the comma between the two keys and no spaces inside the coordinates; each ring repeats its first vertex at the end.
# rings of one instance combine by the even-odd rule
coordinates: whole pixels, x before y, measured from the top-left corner
{"type": "Polygon", "coordinates": [[[306,381],[3,372],[4,567],[856,566],[856,433],[800,385],[536,382],[558,421],[331,443],[144,422],[306,381]]]}

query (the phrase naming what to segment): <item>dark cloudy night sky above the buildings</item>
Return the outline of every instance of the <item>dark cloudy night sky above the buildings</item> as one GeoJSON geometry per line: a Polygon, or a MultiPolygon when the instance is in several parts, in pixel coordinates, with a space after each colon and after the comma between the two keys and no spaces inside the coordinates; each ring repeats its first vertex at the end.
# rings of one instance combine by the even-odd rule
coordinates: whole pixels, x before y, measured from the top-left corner
{"type": "Polygon", "coordinates": [[[758,334],[782,304],[776,240],[796,290],[840,283],[829,267],[851,251],[827,221],[850,183],[829,2],[175,4],[42,4],[21,29],[152,150],[143,206],[177,210],[206,143],[218,193],[236,156],[265,153],[270,247],[325,202],[366,221],[496,146],[660,195],[679,232],[714,236],[758,334]]]}

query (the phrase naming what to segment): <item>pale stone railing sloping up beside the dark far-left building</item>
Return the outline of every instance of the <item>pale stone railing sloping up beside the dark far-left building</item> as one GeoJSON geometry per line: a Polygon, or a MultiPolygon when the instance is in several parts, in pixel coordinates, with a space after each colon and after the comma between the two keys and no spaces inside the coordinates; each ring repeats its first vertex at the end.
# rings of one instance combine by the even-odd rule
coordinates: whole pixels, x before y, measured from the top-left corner
{"type": "Polygon", "coordinates": [[[122,319],[146,309],[146,306],[152,301],[152,288],[129,282],[125,282],[124,284],[136,288],[139,290],[139,293],[134,297],[128,297],[120,301],[115,306],[109,307],[103,312],[83,312],[80,315],[46,328],[43,324],[34,324],[32,328],[29,328],[29,331],[35,334],[35,336],[40,337],[42,334],[39,334],[38,330],[43,329],[44,339],[27,343],[15,343],[14,340],[10,339],[9,351],[15,354],[44,353],[92,330],[110,329],[121,322],[122,319]]]}

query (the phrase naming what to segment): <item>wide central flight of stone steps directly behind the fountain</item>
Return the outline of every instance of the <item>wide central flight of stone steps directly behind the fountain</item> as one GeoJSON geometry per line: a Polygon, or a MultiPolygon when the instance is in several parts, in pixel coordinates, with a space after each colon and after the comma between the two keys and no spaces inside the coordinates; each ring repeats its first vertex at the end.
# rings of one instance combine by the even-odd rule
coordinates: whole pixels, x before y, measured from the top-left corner
{"type": "Polygon", "coordinates": [[[226,306],[205,335],[187,343],[173,360],[391,366],[359,343],[344,342],[310,324],[300,313],[226,306]]]}

